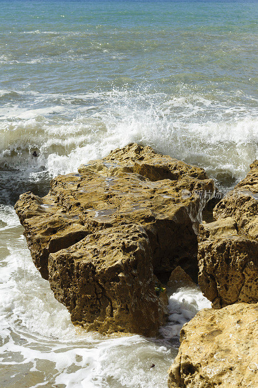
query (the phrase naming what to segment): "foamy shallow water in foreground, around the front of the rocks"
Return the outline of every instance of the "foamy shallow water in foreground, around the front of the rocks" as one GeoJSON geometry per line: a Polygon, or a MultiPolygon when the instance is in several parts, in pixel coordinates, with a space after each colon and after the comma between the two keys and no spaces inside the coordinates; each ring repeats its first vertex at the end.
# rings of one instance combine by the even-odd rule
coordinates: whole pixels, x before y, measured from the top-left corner
{"type": "Polygon", "coordinates": [[[4,387],[18,387],[23,378],[30,387],[165,388],[180,327],[209,306],[201,292],[182,289],[171,296],[170,323],[161,328],[160,339],[78,331],[32,263],[14,210],[2,206],[0,219],[1,243],[8,248],[0,267],[0,369],[8,375],[4,387]]]}

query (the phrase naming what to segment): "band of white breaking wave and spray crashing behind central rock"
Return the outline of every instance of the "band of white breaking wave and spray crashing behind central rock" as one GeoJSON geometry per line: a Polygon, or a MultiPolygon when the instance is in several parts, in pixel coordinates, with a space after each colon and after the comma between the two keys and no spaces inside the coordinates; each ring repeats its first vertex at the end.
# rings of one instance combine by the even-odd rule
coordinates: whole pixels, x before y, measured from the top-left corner
{"type": "Polygon", "coordinates": [[[29,177],[76,171],[81,163],[137,142],[200,165],[219,186],[229,188],[258,155],[256,110],[238,104],[232,113],[232,101],[219,101],[218,96],[113,90],[32,93],[30,98],[34,109],[2,108],[6,112],[0,121],[0,165],[29,177]],[[58,104],[52,105],[54,101],[58,104]],[[42,104],[46,106],[38,108],[42,104]],[[32,157],[34,150],[38,158],[32,157]]]}

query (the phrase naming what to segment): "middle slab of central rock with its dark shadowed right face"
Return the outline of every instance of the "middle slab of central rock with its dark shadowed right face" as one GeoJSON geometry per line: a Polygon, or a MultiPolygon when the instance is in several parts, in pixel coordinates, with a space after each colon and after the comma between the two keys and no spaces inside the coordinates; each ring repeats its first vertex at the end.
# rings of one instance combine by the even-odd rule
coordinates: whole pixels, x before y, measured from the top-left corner
{"type": "Polygon", "coordinates": [[[143,226],[154,271],[158,277],[166,272],[168,278],[177,264],[197,275],[195,232],[206,200],[195,194],[182,198],[187,188],[212,191],[214,183],[192,177],[152,182],[130,173],[105,178],[88,172],[53,179],[50,195],[69,214],[79,215],[90,232],[129,223],[143,226]]]}

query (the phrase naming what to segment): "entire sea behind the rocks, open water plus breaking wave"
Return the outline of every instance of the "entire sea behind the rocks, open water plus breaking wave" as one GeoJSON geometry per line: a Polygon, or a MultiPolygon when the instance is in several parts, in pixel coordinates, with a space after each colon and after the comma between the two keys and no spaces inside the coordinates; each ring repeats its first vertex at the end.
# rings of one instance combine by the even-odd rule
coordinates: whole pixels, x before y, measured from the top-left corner
{"type": "Polygon", "coordinates": [[[258,153],[257,10],[1,0],[2,201],[132,141],[232,186],[258,153]]]}

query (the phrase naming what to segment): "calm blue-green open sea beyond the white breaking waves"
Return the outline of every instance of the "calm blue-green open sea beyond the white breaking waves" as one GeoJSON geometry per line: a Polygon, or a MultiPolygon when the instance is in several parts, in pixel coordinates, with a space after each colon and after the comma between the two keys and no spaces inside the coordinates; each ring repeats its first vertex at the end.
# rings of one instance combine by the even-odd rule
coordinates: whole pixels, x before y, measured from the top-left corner
{"type": "Polygon", "coordinates": [[[256,92],[257,2],[1,1],[1,16],[6,88],[256,92]]]}

